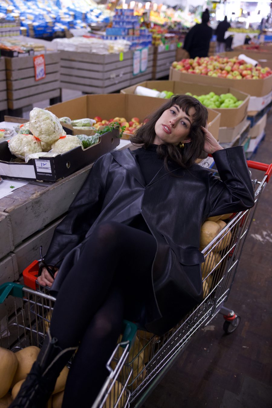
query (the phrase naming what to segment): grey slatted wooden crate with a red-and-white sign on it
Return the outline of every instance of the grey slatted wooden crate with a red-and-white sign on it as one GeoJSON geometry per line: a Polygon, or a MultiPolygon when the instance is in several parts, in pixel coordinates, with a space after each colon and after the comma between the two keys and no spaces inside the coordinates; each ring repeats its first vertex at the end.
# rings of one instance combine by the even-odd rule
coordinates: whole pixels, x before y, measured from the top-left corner
{"type": "Polygon", "coordinates": [[[9,109],[60,96],[60,53],[44,54],[46,77],[35,81],[33,56],[5,58],[9,109]]]}

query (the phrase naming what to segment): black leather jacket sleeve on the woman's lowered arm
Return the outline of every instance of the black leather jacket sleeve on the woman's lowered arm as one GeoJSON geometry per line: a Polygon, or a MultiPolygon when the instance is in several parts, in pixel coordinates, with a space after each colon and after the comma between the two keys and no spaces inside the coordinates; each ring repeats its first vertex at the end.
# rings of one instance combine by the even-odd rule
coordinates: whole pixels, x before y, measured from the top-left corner
{"type": "Polygon", "coordinates": [[[49,249],[44,257],[48,265],[59,267],[65,255],[83,241],[100,214],[104,197],[104,182],[97,162],[95,162],[69,207],[68,214],[55,228],[49,249]]]}

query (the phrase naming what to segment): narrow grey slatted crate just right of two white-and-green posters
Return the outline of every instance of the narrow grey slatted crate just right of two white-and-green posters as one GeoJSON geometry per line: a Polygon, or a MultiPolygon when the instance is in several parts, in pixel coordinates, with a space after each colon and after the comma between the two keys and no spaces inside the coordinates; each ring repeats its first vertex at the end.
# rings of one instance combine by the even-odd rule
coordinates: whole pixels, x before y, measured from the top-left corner
{"type": "Polygon", "coordinates": [[[176,60],[176,52],[177,44],[159,45],[159,47],[155,47],[153,58],[153,80],[169,74],[172,62],[176,60]]]}

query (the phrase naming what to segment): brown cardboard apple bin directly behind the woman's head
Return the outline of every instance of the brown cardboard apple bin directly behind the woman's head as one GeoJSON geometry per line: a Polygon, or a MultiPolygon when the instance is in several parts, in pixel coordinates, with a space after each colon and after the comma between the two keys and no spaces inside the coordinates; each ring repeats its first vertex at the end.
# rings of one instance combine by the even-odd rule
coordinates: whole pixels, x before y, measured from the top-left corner
{"type": "MultiPolygon", "coordinates": [[[[151,98],[124,93],[112,93],[109,95],[85,95],[67,102],[49,106],[49,111],[58,118],[68,116],[72,120],[80,118],[93,118],[100,116],[102,119],[111,118],[139,118],[142,122],[149,113],[158,109],[166,102],[165,99],[151,98]]],[[[208,129],[217,139],[219,132],[220,114],[208,109],[208,129]]]]}

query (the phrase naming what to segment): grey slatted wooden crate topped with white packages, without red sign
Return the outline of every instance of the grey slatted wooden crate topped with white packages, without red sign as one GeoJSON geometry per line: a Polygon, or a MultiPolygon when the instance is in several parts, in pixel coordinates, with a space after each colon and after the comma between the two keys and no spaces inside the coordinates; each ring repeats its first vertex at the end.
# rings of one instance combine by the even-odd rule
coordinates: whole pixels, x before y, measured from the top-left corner
{"type": "Polygon", "coordinates": [[[61,52],[61,87],[85,93],[111,93],[130,84],[132,51],[120,54],[61,52]],[[120,61],[121,60],[121,61],[120,61]]]}

